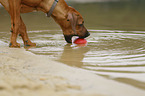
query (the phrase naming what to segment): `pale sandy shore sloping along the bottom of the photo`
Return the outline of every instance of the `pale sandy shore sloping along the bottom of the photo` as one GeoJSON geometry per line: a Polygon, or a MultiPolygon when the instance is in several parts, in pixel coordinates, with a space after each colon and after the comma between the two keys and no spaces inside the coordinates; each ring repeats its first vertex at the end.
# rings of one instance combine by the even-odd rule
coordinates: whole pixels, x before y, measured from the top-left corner
{"type": "Polygon", "coordinates": [[[0,96],[145,96],[145,91],[24,48],[0,46],[0,96]]]}

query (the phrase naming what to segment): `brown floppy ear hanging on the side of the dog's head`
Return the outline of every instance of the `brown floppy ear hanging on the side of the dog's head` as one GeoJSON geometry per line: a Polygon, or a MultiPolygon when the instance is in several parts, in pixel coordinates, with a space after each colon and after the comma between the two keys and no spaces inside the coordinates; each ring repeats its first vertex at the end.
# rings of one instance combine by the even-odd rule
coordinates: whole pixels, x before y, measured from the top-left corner
{"type": "Polygon", "coordinates": [[[72,30],[74,31],[74,33],[76,34],[76,25],[77,25],[77,15],[73,12],[73,13],[68,13],[68,17],[67,20],[70,21],[71,23],[71,27],[72,30]]]}

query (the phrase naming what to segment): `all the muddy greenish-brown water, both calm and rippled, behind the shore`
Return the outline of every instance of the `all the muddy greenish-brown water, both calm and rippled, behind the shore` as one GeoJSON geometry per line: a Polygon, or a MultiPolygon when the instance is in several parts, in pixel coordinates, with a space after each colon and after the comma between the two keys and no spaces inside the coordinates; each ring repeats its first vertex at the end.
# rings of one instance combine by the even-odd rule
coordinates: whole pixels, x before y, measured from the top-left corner
{"type": "MultiPolygon", "coordinates": [[[[59,26],[42,12],[24,14],[29,36],[37,43],[36,48],[26,50],[145,90],[144,4],[143,0],[72,4],[91,33],[85,47],[67,44],[59,26]]],[[[4,46],[9,43],[9,29],[9,15],[0,9],[4,46]]],[[[23,47],[21,38],[18,41],[23,47]]]]}

